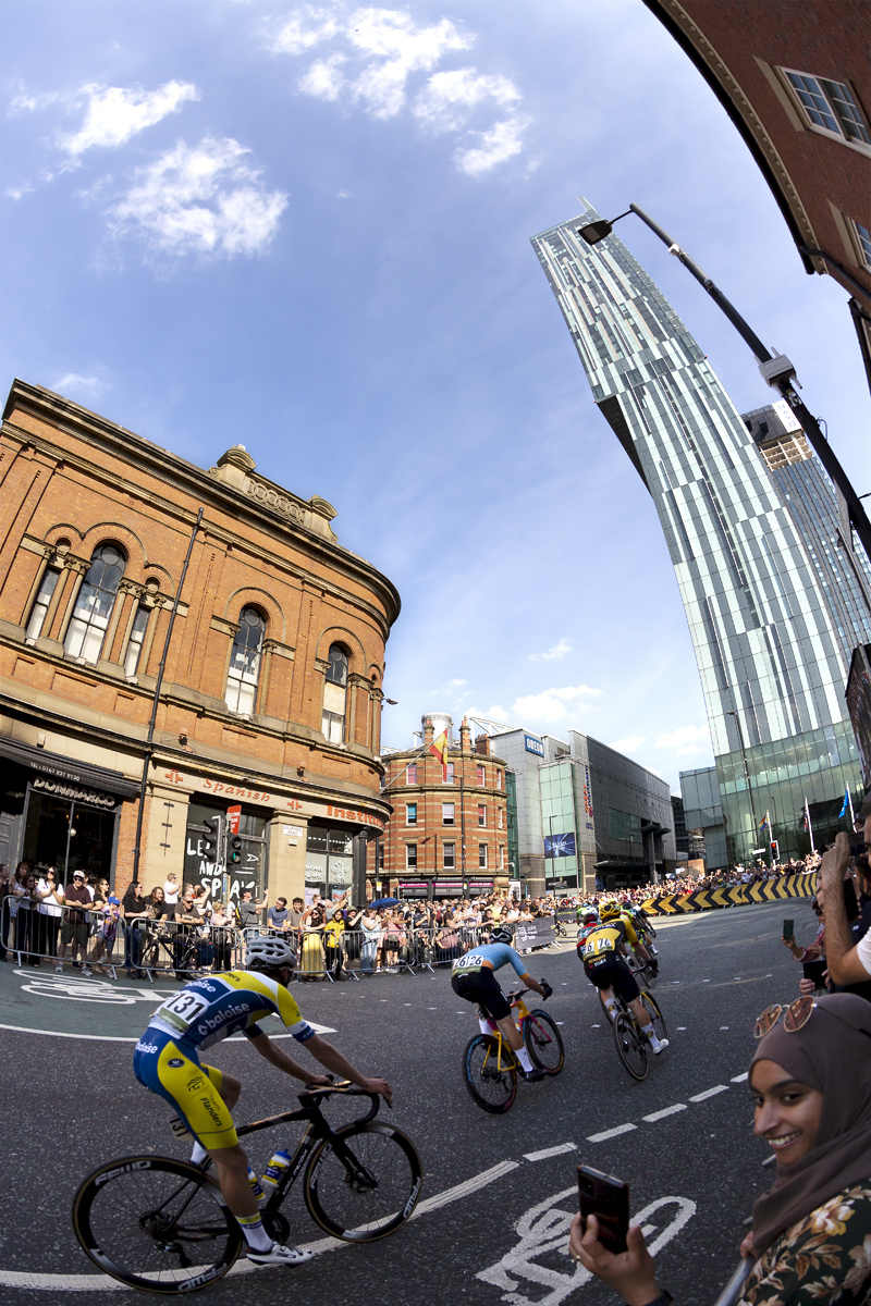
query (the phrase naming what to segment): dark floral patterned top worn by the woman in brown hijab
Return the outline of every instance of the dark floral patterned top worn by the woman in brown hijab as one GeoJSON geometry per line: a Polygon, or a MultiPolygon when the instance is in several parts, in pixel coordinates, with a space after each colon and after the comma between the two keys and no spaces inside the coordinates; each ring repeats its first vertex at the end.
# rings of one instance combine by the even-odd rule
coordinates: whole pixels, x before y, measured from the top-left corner
{"type": "Polygon", "coordinates": [[[753,1266],[739,1306],[871,1303],[871,1181],[790,1225],[753,1266]]]}

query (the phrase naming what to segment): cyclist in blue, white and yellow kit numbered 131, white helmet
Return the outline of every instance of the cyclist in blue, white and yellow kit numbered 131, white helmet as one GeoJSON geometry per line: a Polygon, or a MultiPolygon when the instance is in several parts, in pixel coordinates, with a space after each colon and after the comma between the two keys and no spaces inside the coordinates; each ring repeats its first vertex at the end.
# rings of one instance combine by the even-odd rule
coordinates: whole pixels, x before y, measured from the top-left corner
{"type": "Polygon", "coordinates": [[[277,1015],[321,1066],[390,1101],[387,1080],[360,1075],[303,1020],[287,993],[295,963],[296,953],[285,939],[270,935],[253,939],[245,952],[244,970],[202,976],[167,998],[151,1016],[133,1054],[133,1072],[140,1084],[166,1098],[197,1140],[191,1161],[200,1165],[206,1155],[212,1158],[225,1202],[245,1237],[248,1259],[259,1266],[300,1266],[313,1252],[286,1247],[266,1234],[251,1187],[248,1158],[230,1114],[242,1084],[200,1062],[200,1051],[240,1033],[277,1070],[304,1084],[329,1084],[329,1079],[311,1075],[269,1040],[257,1021],[277,1015]]]}

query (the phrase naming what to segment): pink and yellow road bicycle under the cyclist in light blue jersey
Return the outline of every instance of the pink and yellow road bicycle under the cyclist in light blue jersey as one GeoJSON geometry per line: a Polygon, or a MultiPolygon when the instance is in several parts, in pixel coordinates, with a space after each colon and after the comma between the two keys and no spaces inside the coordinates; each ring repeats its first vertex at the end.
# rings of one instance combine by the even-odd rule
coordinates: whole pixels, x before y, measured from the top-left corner
{"type": "MultiPolygon", "coordinates": [[[[516,1024],[520,1029],[526,1051],[533,1066],[547,1075],[559,1075],[565,1064],[563,1036],[546,1011],[530,1011],[522,1000],[528,989],[507,994],[516,1024]]],[[[466,1043],[462,1054],[462,1077],[471,1093],[471,1100],[491,1115],[501,1115],[511,1110],[517,1096],[517,1071],[520,1062],[509,1047],[501,1029],[490,1020],[481,1007],[478,1019],[486,1020],[491,1033],[475,1034],[466,1043]]]]}

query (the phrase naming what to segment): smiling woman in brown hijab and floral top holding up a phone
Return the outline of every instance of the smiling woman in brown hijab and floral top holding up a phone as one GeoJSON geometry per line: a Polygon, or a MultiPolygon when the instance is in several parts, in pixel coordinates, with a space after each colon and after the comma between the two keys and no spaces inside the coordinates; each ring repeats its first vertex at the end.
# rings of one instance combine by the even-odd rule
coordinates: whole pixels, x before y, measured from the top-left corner
{"type": "MultiPolygon", "coordinates": [[[[753,1131],[777,1175],[753,1207],[740,1246],[755,1258],[738,1306],[864,1306],[871,1302],[871,1004],[855,994],[797,998],[756,1021],[750,1067],[753,1131]]],[[[671,1301],[654,1277],[641,1230],[607,1252],[598,1221],[572,1221],[569,1255],[632,1306],[671,1301]]]]}

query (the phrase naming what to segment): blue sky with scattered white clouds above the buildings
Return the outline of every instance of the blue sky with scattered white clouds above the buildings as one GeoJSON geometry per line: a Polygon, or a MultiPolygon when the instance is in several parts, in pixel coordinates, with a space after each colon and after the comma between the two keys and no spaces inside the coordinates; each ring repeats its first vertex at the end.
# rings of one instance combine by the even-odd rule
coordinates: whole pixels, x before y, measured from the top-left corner
{"type": "MultiPolygon", "coordinates": [[[[529,236],[635,201],[768,343],[859,492],[846,295],[807,277],[640,0],[17,0],[3,10],[3,375],[338,509],[398,586],[385,744],[477,712],[710,763],[678,588],[529,236]]],[[[701,289],[620,235],[739,409],[773,398],[701,289]]]]}

